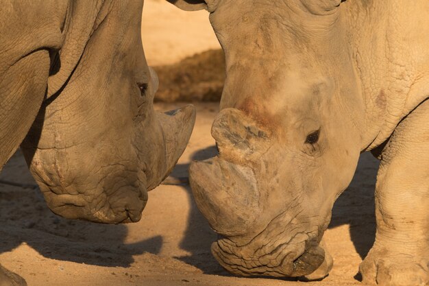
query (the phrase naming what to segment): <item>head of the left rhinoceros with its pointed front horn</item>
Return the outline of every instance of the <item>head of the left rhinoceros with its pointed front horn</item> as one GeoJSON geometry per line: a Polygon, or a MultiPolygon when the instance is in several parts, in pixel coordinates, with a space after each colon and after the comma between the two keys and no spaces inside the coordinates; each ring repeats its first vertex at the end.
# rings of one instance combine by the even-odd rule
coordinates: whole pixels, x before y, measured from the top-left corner
{"type": "Polygon", "coordinates": [[[143,53],[142,5],[70,3],[50,97],[21,145],[49,208],[63,217],[137,222],[147,191],[168,176],[191,136],[193,106],[154,110],[158,77],[143,53]]]}

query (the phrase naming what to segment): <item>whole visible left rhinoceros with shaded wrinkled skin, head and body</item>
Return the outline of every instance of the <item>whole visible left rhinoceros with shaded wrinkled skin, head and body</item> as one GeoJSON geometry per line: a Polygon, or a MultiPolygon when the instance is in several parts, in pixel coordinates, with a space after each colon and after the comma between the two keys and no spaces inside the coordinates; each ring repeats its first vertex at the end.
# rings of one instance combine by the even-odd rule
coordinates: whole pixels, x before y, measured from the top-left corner
{"type": "MultiPolygon", "coordinates": [[[[154,111],[158,78],[140,40],[142,8],[1,3],[0,166],[21,144],[49,208],[63,217],[137,222],[147,191],[191,136],[192,106],[154,111]]],[[[24,282],[0,268],[0,285],[24,282]]]]}

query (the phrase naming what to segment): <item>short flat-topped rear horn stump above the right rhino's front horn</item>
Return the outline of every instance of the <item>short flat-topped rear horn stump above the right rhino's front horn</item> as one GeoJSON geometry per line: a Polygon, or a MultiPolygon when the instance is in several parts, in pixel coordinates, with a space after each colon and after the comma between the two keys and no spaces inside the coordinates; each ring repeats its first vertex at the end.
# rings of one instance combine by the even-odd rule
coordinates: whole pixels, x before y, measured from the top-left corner
{"type": "Polygon", "coordinates": [[[268,134],[256,121],[236,108],[219,112],[212,126],[219,153],[223,156],[248,158],[267,149],[268,134]]]}

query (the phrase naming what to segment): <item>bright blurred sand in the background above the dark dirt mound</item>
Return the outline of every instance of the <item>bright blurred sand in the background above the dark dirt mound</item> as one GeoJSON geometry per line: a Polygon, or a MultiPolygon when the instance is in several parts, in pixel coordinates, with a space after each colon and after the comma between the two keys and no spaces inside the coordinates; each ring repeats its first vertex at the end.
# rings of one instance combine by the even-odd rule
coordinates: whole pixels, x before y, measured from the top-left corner
{"type": "Polygon", "coordinates": [[[195,53],[220,49],[208,12],[186,12],[165,0],[146,0],[142,40],[149,66],[174,64],[195,53]]]}

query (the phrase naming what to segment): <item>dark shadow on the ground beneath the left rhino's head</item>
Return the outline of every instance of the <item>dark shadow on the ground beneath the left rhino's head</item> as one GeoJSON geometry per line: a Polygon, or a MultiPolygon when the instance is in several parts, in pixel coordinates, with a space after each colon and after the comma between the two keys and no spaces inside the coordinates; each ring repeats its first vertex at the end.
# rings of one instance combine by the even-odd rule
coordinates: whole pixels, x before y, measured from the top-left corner
{"type": "Polygon", "coordinates": [[[43,257],[100,266],[127,267],[133,255],[158,254],[162,237],[124,243],[124,225],[95,224],[58,217],[49,211],[16,152],[0,174],[0,253],[27,243],[43,257]],[[18,182],[18,183],[17,183],[18,182]]]}

